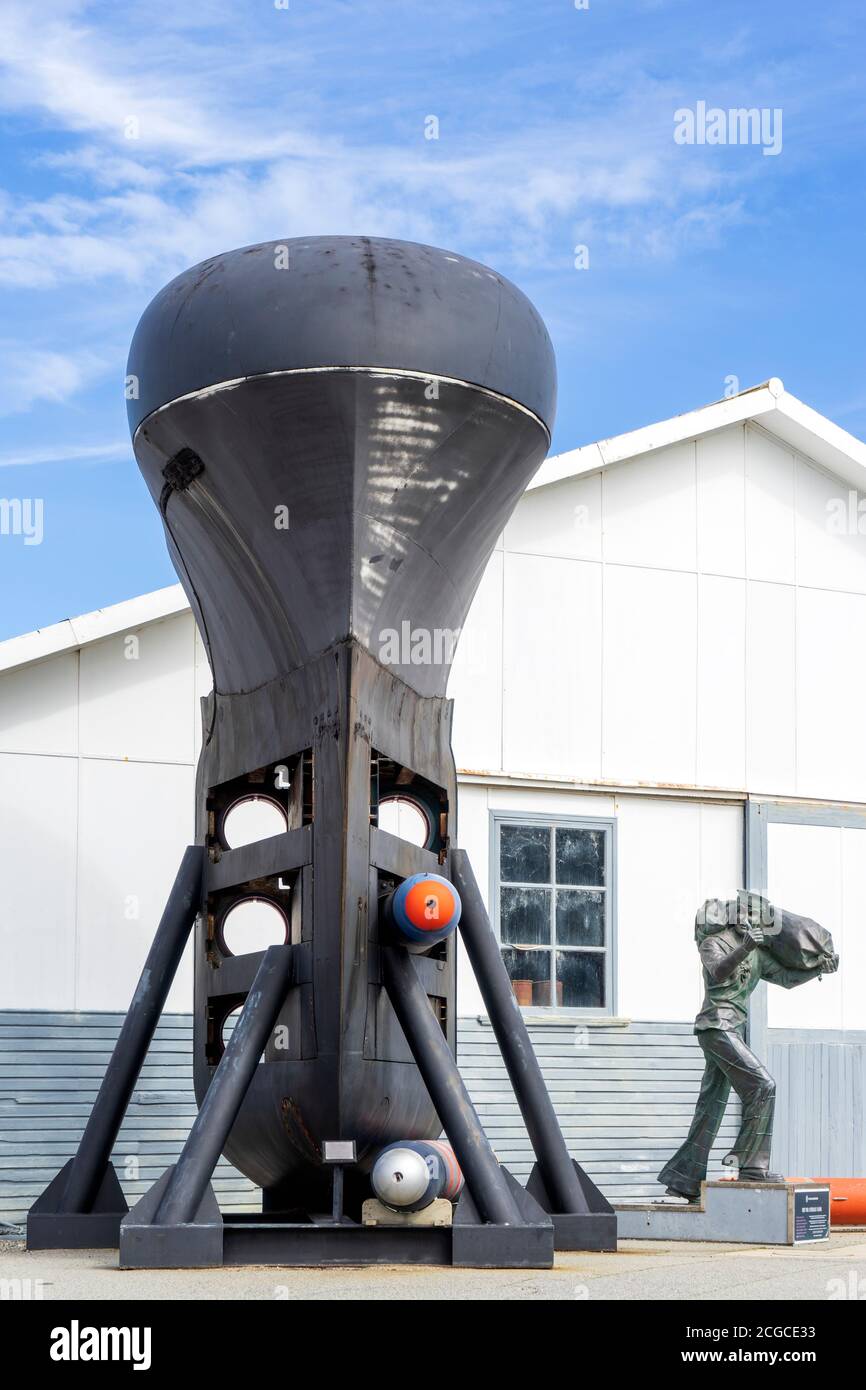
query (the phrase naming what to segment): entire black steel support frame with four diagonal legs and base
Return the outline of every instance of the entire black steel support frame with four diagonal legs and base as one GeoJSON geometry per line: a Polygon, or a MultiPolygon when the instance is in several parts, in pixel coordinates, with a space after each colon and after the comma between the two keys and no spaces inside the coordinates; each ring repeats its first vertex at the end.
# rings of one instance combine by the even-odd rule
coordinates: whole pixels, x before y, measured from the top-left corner
{"type": "Polygon", "coordinates": [[[124,1268],[256,1262],[544,1268],[552,1264],[553,1248],[616,1248],[616,1215],[567,1154],[463,851],[452,851],[450,872],[463,898],[467,954],[538,1156],[525,1191],[493,1155],[414,958],[391,945],[382,948],[385,988],[466,1175],[453,1227],[364,1227],[334,1216],[222,1218],[210,1183],[293,980],[297,948],[284,945],[264,952],[178,1162],[128,1211],[110,1154],[199,910],[203,851],[189,847],[79,1150],[28,1216],[29,1247],[120,1245],[124,1268]]]}

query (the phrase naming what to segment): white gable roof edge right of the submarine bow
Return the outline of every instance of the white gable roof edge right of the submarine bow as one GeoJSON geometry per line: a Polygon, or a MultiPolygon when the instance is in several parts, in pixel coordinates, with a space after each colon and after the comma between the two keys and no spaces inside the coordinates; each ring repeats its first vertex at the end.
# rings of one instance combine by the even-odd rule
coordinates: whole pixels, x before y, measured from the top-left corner
{"type": "Polygon", "coordinates": [[[527,491],[595,473],[685,439],[699,439],[745,420],[756,421],[788,448],[815,459],[851,486],[866,491],[866,443],[787,392],[778,377],[683,416],[555,455],[542,463],[527,491]]]}

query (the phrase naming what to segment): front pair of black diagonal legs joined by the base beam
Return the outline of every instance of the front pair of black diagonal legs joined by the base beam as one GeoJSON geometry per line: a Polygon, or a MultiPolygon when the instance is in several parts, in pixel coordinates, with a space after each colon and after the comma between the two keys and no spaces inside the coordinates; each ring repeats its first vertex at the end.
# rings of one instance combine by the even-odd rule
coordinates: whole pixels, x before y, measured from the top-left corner
{"type": "Polygon", "coordinates": [[[385,983],[431,1099],[466,1175],[448,1227],[366,1227],[336,1213],[306,1222],[222,1216],[210,1179],[292,983],[296,948],[270,947],[181,1156],[124,1218],[121,1268],[222,1264],[446,1264],[549,1268],[553,1226],[496,1162],[411,955],[384,949],[385,983]]]}

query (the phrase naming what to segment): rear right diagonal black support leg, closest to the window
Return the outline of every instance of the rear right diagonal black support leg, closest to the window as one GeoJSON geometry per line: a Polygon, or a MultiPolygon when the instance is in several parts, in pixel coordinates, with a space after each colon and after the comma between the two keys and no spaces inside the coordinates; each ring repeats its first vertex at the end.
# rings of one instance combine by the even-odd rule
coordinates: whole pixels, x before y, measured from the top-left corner
{"type": "Polygon", "coordinates": [[[530,1034],[514,998],[499,942],[489,924],[466,851],[452,851],[450,873],[463,901],[460,934],[514,1087],[514,1095],[530,1143],[538,1158],[538,1168],[553,1211],[587,1212],[589,1211],[587,1198],[566,1148],[553,1102],[532,1051],[530,1034]]]}

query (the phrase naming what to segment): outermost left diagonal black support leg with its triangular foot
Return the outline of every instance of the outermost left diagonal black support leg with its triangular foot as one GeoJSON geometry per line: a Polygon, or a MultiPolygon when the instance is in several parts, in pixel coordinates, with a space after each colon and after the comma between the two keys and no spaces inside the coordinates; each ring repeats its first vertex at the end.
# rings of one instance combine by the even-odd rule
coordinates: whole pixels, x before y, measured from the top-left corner
{"type": "Polygon", "coordinates": [[[28,1212],[31,1250],[83,1250],[118,1243],[121,1218],[129,1208],[111,1163],[111,1150],[199,912],[203,862],[203,848],[189,845],[78,1151],[28,1212]]]}

